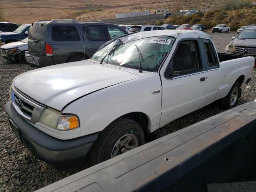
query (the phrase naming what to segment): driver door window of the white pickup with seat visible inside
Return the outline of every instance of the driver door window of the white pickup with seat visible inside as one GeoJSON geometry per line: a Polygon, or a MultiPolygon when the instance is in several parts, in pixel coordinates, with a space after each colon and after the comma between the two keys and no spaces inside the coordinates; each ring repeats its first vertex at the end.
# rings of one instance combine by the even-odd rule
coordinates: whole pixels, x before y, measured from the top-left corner
{"type": "Polygon", "coordinates": [[[183,41],[179,44],[172,59],[174,72],[185,75],[201,70],[201,59],[196,40],[183,41]]]}

